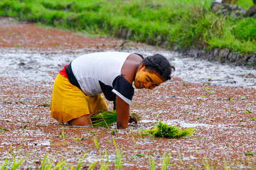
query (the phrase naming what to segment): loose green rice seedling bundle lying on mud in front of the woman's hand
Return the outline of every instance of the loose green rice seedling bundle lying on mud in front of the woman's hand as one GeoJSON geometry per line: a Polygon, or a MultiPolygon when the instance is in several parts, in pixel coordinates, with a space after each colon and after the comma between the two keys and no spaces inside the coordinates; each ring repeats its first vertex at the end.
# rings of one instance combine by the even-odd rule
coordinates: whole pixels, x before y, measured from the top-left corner
{"type": "Polygon", "coordinates": [[[146,130],[150,135],[154,135],[155,137],[166,137],[166,138],[180,138],[186,137],[189,135],[193,135],[195,130],[193,128],[186,128],[181,130],[174,125],[167,125],[166,123],[161,123],[159,121],[159,125],[157,125],[152,130],[146,130]]]}

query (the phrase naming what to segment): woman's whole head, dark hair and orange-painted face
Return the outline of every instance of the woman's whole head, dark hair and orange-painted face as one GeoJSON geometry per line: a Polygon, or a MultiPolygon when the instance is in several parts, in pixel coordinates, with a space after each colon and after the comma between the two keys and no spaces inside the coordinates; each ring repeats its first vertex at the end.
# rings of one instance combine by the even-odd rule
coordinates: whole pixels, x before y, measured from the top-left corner
{"type": "Polygon", "coordinates": [[[154,89],[164,81],[171,79],[171,66],[166,57],[156,54],[144,58],[134,79],[134,85],[138,89],[154,89]]]}

